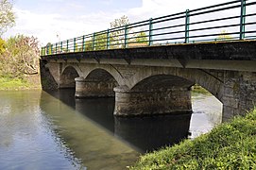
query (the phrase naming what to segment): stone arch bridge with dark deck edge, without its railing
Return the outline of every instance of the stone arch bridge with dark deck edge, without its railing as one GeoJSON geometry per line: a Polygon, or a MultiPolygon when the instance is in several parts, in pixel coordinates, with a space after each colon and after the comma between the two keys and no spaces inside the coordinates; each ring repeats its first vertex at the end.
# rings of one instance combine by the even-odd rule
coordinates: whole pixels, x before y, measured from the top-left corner
{"type": "Polygon", "coordinates": [[[115,96],[114,115],[192,111],[198,84],[223,103],[223,121],[256,103],[256,41],[200,42],[42,56],[43,89],[115,96]]]}

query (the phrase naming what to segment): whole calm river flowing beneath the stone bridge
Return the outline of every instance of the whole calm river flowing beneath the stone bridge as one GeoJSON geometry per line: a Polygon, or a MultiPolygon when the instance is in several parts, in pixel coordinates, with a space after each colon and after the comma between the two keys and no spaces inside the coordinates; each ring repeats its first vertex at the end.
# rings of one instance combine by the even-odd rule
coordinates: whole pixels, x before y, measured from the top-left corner
{"type": "Polygon", "coordinates": [[[113,98],[73,90],[0,92],[0,169],[126,169],[145,152],[210,131],[221,103],[193,93],[192,114],[114,117],[113,98]]]}

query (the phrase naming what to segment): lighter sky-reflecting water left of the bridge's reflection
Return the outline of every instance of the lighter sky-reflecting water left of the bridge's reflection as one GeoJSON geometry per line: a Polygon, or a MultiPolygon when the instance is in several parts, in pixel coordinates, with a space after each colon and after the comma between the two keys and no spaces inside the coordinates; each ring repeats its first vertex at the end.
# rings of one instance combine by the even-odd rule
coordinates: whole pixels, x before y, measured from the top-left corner
{"type": "Polygon", "coordinates": [[[79,169],[40,108],[41,91],[0,92],[0,169],[79,169]]]}

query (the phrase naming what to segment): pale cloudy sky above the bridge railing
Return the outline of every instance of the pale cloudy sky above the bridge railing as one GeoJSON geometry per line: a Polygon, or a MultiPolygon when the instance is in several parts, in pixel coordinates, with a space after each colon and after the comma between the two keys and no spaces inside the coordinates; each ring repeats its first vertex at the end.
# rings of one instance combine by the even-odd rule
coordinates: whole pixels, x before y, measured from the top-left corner
{"type": "Polygon", "coordinates": [[[186,9],[224,3],[223,0],[12,1],[16,25],[4,34],[4,38],[24,34],[37,37],[42,45],[106,30],[114,19],[123,15],[128,16],[129,23],[135,23],[186,9]]]}

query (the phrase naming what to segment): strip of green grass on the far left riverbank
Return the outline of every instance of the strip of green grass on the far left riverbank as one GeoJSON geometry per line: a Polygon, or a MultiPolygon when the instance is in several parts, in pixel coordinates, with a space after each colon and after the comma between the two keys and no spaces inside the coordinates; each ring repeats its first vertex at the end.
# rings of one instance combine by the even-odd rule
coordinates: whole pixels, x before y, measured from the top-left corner
{"type": "Polygon", "coordinates": [[[0,77],[0,90],[21,90],[29,87],[30,84],[24,79],[0,77]]]}

